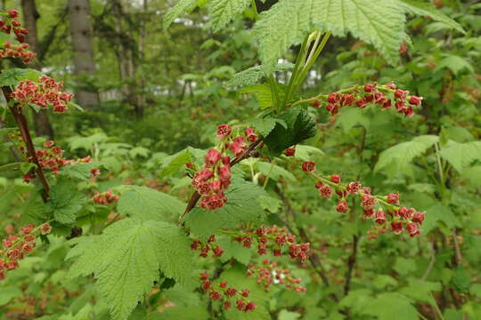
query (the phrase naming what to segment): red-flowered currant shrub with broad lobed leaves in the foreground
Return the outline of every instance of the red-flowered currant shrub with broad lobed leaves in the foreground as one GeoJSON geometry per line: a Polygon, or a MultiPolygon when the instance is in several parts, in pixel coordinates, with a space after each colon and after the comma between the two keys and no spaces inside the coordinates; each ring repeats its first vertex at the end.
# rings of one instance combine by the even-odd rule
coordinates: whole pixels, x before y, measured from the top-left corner
{"type": "MultiPolygon", "coordinates": [[[[319,132],[328,134],[330,124],[348,110],[382,115],[408,130],[431,103],[395,77],[305,95],[303,85],[333,37],[349,34],[395,68],[400,48],[412,44],[408,18],[419,15],[457,34],[465,32],[461,25],[435,6],[412,0],[281,0],[270,8],[262,0],[180,0],[164,16],[166,32],[198,7],[207,8],[206,28],[214,32],[243,14],[259,61],[225,84],[256,95],[258,115],[218,124],[207,150],[153,154],[137,165],[133,159],[149,157],[148,149],[109,142],[97,132],[69,140],[71,151],[91,152],[69,158],[58,142],[32,138],[27,115],[80,112],[75,97],[37,70],[2,71],[2,147],[15,159],[2,169],[21,172],[23,182],[12,188],[11,197],[25,202],[18,226],[9,225],[0,251],[0,285],[6,288],[0,302],[12,306],[5,310],[42,319],[476,318],[481,307],[471,295],[481,290],[469,288],[455,232],[445,241],[456,248],[456,271],[436,271],[442,281],[427,281],[437,270],[436,261],[450,259],[433,242],[432,252],[444,256],[433,254],[427,273],[411,275],[416,268],[409,249],[426,242],[426,231],[449,235],[446,228],[458,227],[459,221],[453,218],[438,230],[429,212],[409,201],[420,191],[400,194],[394,184],[384,192],[383,181],[332,172],[332,165],[322,164],[327,155],[320,148],[303,144],[319,132]],[[259,12],[261,6],[265,11],[259,12]],[[291,47],[297,48],[296,57],[289,62],[291,47]],[[328,123],[320,124],[320,117],[328,123]],[[154,172],[163,184],[138,178],[139,172],[154,172]],[[22,196],[26,192],[29,196],[22,196]],[[328,212],[322,217],[325,225],[315,225],[314,206],[328,212]],[[347,220],[354,232],[351,227],[337,235],[327,230],[334,221],[347,220]],[[356,268],[358,244],[364,240],[373,257],[382,251],[387,258],[363,263],[385,266],[395,256],[396,274],[378,276],[373,269],[356,268]],[[332,262],[346,251],[352,251],[347,259],[332,262]],[[36,273],[33,284],[23,284],[31,273],[36,273]],[[369,284],[363,286],[361,276],[369,284]],[[403,276],[411,276],[409,284],[401,284],[403,276]],[[35,299],[29,303],[39,294],[44,297],[40,306],[35,299]],[[13,302],[18,295],[23,300],[13,302]]],[[[4,65],[12,60],[28,64],[35,59],[25,44],[28,30],[21,28],[16,10],[1,14],[4,65]]],[[[479,161],[481,148],[476,141],[441,145],[441,137],[428,133],[375,156],[379,161],[373,171],[403,171],[404,163],[432,151],[429,162],[420,165],[432,175],[429,186],[434,187],[424,183],[418,188],[436,188],[430,193],[440,203],[439,212],[450,215],[452,168],[463,172],[479,161]]],[[[365,135],[357,152],[361,160],[365,135]]]]}

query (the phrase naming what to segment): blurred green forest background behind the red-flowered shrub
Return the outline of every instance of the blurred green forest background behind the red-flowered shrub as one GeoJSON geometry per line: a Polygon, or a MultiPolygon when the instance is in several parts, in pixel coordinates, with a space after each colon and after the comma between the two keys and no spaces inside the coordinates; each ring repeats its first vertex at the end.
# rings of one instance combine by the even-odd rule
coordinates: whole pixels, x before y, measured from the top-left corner
{"type": "MultiPolygon", "coordinates": [[[[275,3],[257,1],[257,11],[275,3]]],[[[300,92],[306,99],[353,84],[395,81],[424,98],[410,118],[374,108],[350,108],[330,116],[323,108],[309,106],[318,130],[298,147],[299,161],[313,160],[322,171],[342,172],[386,194],[400,192],[405,203],[427,212],[422,234],[370,241],[362,209],[340,215],[318,196],[299,166],[284,162],[285,157],[244,163],[249,180],[268,193],[262,206],[271,223],[289,227],[290,221],[297,226],[322,261],[321,267],[314,267],[322,268],[328,279],[292,264],[307,291],[259,291],[257,298],[265,308],[254,311],[262,314],[253,318],[481,317],[481,4],[432,3],[465,32],[426,16],[408,15],[410,38],[401,45],[395,65],[353,36],[331,37],[300,92]],[[274,162],[279,166],[264,165],[274,162]]],[[[0,3],[3,10],[17,8],[29,29],[27,42],[37,52],[30,68],[63,81],[83,108],[67,115],[27,113],[37,143],[54,139],[69,158],[90,155],[102,163],[101,175],[79,182],[76,189],[94,196],[109,189],[121,194],[121,186],[138,185],[186,202],[192,193],[190,179],[183,168],[167,165],[169,156],[183,155],[188,146],[192,154],[209,148],[216,141],[217,125],[254,117],[265,103],[259,87],[235,90],[232,83],[235,74],[259,63],[251,32],[257,12],[249,7],[214,32],[207,9],[195,8],[166,29],[165,14],[174,4],[0,3]]],[[[298,52],[299,46],[293,46],[279,62],[294,62],[298,52]]],[[[14,61],[3,63],[3,68],[20,67],[14,61]]],[[[280,83],[289,72],[277,72],[280,83]]],[[[22,180],[21,170],[6,166],[14,162],[8,147],[0,146],[0,238],[15,234],[36,205],[29,200],[33,186],[22,180]]],[[[77,227],[91,219],[110,225],[118,218],[114,207],[95,218],[77,215],[77,227]]],[[[92,278],[65,280],[71,265],[65,260],[71,247],[66,237],[67,231],[53,237],[50,246],[40,247],[0,282],[0,318],[110,318],[109,308],[97,303],[92,278]]],[[[232,244],[231,252],[225,251],[245,267],[255,252],[241,249],[232,244]]],[[[201,261],[198,268],[217,268],[216,263],[221,264],[201,261]]],[[[199,289],[183,292],[163,285],[152,289],[130,319],[252,316],[217,314],[199,289]]]]}

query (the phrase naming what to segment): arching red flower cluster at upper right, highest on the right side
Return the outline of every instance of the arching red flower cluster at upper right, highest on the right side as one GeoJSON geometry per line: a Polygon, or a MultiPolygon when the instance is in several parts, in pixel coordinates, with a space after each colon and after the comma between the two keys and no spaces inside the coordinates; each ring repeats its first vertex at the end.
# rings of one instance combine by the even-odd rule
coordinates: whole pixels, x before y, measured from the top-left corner
{"type": "MultiPolygon", "coordinates": [[[[383,109],[395,106],[397,113],[404,116],[414,116],[413,107],[421,105],[422,98],[410,96],[408,91],[397,89],[395,84],[364,84],[340,92],[332,92],[327,96],[326,109],[331,115],[338,113],[339,109],[346,106],[365,108],[368,104],[377,104],[383,109]]],[[[319,100],[314,100],[313,105],[319,106],[319,100]]]]}

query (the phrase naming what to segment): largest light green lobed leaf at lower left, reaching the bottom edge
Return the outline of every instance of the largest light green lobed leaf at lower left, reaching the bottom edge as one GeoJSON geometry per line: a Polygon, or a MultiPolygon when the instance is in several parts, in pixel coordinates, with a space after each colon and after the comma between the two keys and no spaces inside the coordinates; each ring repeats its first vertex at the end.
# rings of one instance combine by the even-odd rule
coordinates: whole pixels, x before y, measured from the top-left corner
{"type": "Polygon", "coordinates": [[[94,273],[96,288],[116,320],[125,320],[162,272],[183,284],[192,273],[190,240],[160,221],[120,220],[101,236],[77,238],[69,278],[94,273]]]}

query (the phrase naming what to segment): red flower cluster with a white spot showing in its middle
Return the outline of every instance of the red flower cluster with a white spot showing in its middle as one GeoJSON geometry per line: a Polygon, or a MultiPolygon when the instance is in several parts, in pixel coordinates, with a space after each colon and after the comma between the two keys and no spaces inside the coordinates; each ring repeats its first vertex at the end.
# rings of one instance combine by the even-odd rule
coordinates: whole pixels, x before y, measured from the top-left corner
{"type": "Polygon", "coordinates": [[[256,268],[253,264],[249,264],[247,276],[257,275],[257,284],[263,284],[264,290],[268,291],[272,284],[281,284],[288,290],[295,292],[306,292],[306,288],[300,284],[301,279],[290,275],[288,268],[279,268],[279,264],[262,260],[263,266],[256,268]]]}

